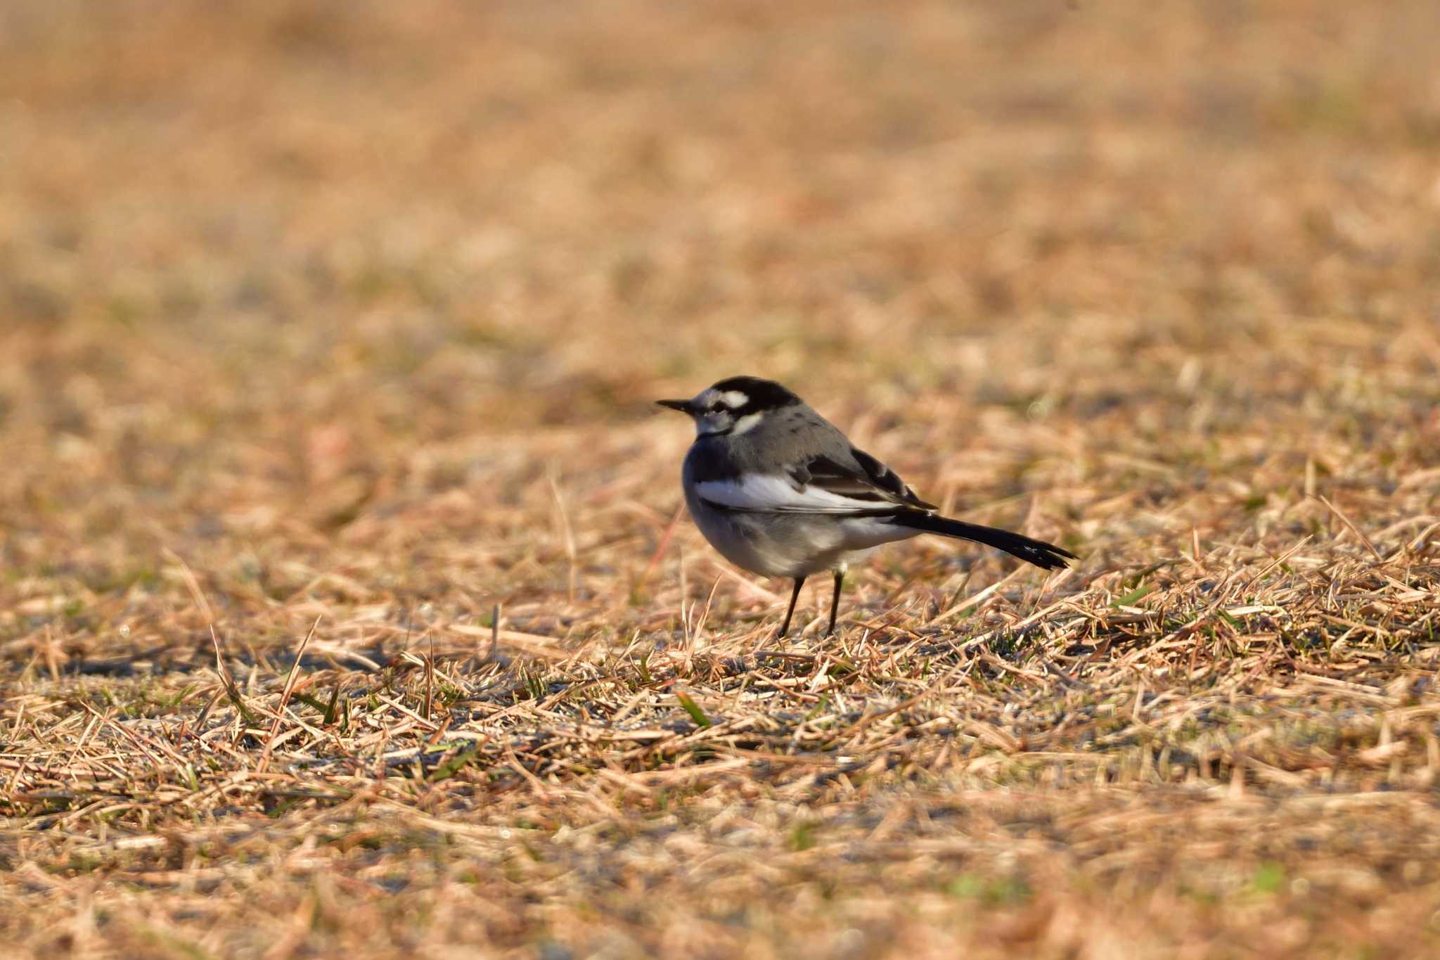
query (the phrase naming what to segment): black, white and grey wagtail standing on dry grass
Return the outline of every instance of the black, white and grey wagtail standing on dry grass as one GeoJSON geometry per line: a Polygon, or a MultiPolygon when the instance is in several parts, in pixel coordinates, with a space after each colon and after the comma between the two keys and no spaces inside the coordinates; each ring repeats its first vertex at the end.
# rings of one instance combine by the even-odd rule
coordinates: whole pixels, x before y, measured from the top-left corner
{"type": "Polygon", "coordinates": [[[1045,570],[1074,558],[1054,544],[940,517],[894,471],[772,380],[730,377],[693,400],[657,403],[696,422],[681,482],[710,545],[737,567],[795,580],[780,636],[805,577],[821,570],[835,574],[825,635],[834,633],[845,570],[893,540],[973,540],[1045,570]]]}

